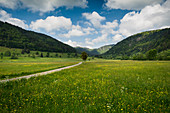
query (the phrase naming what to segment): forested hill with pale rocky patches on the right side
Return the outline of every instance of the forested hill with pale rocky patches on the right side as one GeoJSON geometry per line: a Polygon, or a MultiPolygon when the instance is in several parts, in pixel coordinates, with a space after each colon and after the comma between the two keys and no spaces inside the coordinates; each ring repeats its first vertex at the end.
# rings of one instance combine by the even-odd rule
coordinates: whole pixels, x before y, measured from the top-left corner
{"type": "Polygon", "coordinates": [[[123,55],[131,56],[137,53],[146,53],[150,49],[156,49],[158,52],[170,49],[170,28],[130,36],[114,45],[102,56],[112,58],[123,55]]]}

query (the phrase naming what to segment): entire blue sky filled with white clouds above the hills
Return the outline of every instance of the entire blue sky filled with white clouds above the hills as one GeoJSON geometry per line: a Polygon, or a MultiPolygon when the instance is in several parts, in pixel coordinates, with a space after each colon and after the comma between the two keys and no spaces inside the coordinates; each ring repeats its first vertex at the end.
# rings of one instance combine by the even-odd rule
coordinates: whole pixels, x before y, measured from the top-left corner
{"type": "Polygon", "coordinates": [[[70,46],[99,48],[170,27],[170,0],[0,0],[0,20],[70,46]]]}

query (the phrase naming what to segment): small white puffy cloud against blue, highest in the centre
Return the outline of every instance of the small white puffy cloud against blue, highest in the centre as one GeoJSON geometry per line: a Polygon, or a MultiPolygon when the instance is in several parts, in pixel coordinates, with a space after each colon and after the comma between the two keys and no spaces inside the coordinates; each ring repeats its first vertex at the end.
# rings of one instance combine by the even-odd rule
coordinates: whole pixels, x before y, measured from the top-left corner
{"type": "Polygon", "coordinates": [[[100,16],[97,12],[93,13],[83,13],[83,17],[85,17],[87,20],[89,20],[94,27],[100,28],[101,27],[101,21],[104,21],[106,18],[100,16]]]}

